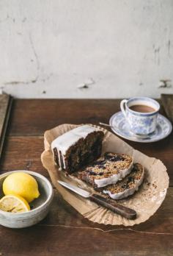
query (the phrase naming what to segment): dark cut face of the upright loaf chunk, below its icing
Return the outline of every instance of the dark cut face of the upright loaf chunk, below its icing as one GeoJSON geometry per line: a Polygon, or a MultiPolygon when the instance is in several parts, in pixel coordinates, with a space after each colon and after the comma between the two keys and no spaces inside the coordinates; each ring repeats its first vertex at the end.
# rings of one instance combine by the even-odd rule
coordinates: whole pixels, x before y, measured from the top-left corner
{"type": "MultiPolygon", "coordinates": [[[[71,174],[100,157],[103,137],[104,133],[102,131],[91,132],[86,138],[80,138],[73,146],[70,146],[64,156],[65,171],[71,174]]],[[[59,152],[59,154],[62,163],[62,153],[59,152]]],[[[54,149],[54,160],[59,165],[56,148],[54,149]]]]}

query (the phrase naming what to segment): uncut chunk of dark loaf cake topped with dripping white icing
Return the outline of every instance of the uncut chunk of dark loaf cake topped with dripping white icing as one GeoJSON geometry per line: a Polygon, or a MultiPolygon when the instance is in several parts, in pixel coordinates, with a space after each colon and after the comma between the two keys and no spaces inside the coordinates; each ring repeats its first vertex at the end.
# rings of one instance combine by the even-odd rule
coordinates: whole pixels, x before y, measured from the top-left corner
{"type": "Polygon", "coordinates": [[[71,174],[100,157],[104,133],[83,125],[59,136],[51,143],[59,169],[71,174]]]}

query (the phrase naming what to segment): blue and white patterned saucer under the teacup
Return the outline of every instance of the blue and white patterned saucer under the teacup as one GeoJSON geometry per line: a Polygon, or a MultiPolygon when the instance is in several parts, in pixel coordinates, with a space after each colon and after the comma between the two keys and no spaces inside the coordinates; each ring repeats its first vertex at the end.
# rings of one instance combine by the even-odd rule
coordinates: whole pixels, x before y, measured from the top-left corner
{"type": "Polygon", "coordinates": [[[172,132],[172,123],[163,115],[158,114],[157,126],[155,132],[152,132],[146,137],[141,137],[139,135],[134,135],[130,132],[130,127],[128,122],[125,120],[125,116],[121,111],[115,113],[111,116],[109,124],[113,132],[122,138],[129,141],[137,141],[142,143],[149,143],[154,141],[160,141],[166,138],[172,132]]]}

